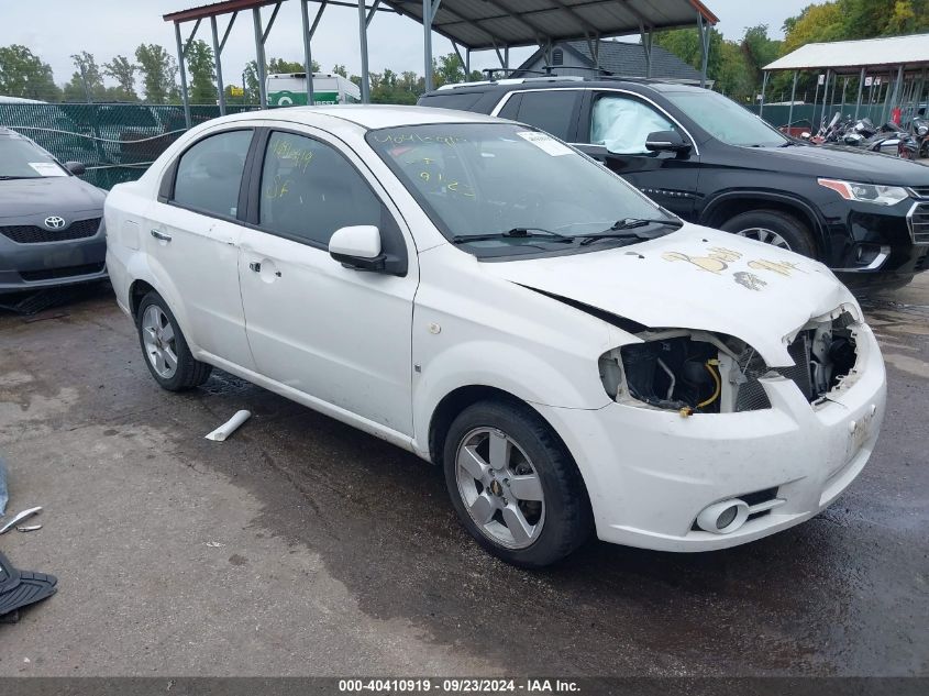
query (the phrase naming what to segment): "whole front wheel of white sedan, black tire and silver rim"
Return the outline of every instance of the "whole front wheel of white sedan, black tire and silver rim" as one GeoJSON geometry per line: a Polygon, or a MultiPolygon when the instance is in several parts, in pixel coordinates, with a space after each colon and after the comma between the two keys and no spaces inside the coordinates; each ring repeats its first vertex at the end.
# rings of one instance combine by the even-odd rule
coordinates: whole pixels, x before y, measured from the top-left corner
{"type": "Polygon", "coordinates": [[[493,400],[467,407],[449,429],[443,463],[458,519],[484,549],[508,563],[550,565],[590,533],[580,473],[528,406],[493,400]]]}

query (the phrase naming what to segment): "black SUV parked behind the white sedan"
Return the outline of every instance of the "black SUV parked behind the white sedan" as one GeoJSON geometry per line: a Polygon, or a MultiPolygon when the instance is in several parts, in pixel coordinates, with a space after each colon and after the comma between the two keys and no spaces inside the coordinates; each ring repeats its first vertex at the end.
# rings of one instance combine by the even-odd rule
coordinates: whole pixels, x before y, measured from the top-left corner
{"type": "Polygon", "coordinates": [[[685,220],[812,256],[851,286],[905,285],[929,267],[929,167],[786,137],[706,89],[528,78],[447,86],[419,104],[549,131],[685,220]]]}

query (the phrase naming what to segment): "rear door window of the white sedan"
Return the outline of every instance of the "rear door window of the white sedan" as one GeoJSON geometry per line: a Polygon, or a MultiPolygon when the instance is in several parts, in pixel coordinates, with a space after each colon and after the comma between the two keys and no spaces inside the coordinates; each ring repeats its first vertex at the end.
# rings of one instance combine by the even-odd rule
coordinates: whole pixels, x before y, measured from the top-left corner
{"type": "Polygon", "coordinates": [[[177,164],[172,200],[186,208],[234,218],[251,143],[252,131],[228,131],[188,148],[177,164]]]}

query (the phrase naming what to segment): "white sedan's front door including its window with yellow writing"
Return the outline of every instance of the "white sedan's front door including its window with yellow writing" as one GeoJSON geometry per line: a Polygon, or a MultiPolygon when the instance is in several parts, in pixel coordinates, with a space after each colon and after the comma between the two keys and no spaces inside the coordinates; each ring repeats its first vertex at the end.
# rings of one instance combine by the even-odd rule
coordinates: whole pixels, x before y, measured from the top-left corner
{"type": "Polygon", "coordinates": [[[354,153],[327,136],[273,131],[242,233],[240,279],[258,373],[325,404],[412,434],[416,254],[389,199],[354,153]],[[343,267],[333,232],[373,224],[409,257],[403,277],[343,267]]]}

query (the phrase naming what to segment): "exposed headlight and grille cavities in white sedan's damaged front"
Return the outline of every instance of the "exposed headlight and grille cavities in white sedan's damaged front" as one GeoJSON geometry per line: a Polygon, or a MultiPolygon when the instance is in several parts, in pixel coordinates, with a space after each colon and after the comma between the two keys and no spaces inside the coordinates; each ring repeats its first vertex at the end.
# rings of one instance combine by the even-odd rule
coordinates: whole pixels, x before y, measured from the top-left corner
{"type": "Polygon", "coordinates": [[[640,343],[600,356],[600,379],[617,402],[692,413],[771,408],[763,378],[793,380],[817,405],[854,380],[860,324],[840,308],[786,339],[789,366],[768,366],[744,341],[689,329],[644,330],[640,343]]]}

